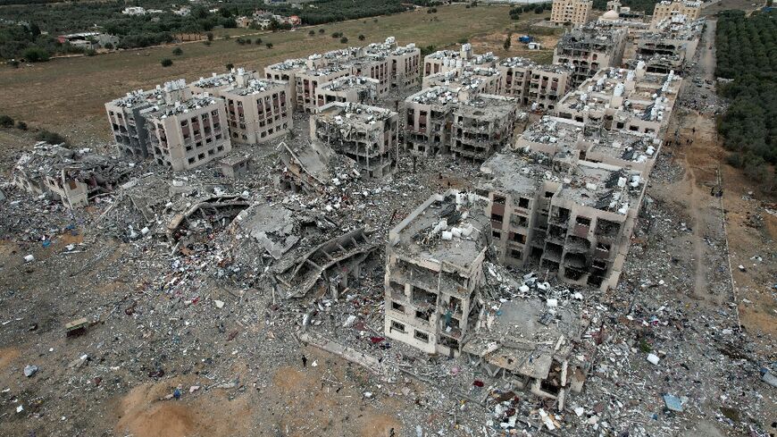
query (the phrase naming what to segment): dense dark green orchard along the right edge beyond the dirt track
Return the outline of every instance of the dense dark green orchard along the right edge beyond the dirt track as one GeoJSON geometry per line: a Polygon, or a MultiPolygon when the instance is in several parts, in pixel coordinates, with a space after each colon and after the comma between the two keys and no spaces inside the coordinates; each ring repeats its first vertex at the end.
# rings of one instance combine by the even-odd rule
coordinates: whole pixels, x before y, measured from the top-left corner
{"type": "Polygon", "coordinates": [[[719,87],[730,100],[718,120],[729,163],[777,189],[777,15],[723,11],[715,30],[715,74],[731,79],[719,87]]]}

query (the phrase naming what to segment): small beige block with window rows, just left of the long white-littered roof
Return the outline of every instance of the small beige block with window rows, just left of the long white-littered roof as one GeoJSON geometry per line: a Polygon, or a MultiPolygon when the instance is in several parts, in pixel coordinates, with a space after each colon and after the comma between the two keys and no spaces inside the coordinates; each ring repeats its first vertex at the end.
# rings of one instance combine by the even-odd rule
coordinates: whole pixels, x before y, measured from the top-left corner
{"type": "Polygon", "coordinates": [[[521,57],[506,58],[497,64],[501,92],[514,97],[532,110],[554,109],[559,98],[572,88],[572,70],[564,65],[542,65],[521,57]]]}

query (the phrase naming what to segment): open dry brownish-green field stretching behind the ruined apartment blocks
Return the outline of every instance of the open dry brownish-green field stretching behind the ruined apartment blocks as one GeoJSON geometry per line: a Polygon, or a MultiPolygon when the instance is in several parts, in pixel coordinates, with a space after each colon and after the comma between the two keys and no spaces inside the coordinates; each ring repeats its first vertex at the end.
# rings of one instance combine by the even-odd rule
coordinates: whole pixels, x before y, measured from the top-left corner
{"type": "MultiPolygon", "coordinates": [[[[347,46],[330,37],[336,31],[343,32],[349,39],[348,45],[353,46],[360,45],[359,35],[366,37],[364,43],[396,36],[400,44],[414,42],[418,46],[433,45],[438,48],[456,46],[459,39],[470,38],[476,52],[482,52],[491,47],[480,47],[478,40],[504,35],[505,29],[514,29],[516,23],[510,20],[508,6],[480,5],[466,9],[464,5],[456,4],[437,9],[436,14],[421,9],[379,17],[376,21],[331,23],[252,37],[262,38],[261,46],[241,46],[235,38],[230,38],[215,40],[211,46],[202,42],[181,44],[183,55],[180,56],[171,55],[175,46],[164,46],[55,59],[20,69],[2,68],[0,107],[4,113],[28,122],[31,127],[55,130],[74,141],[109,139],[104,103],[122,96],[129,89],[154,87],[165,80],[180,77],[196,80],[213,71],[224,71],[227,63],[261,70],[270,63],[347,46]],[[315,36],[308,35],[310,29],[316,31],[315,36]],[[320,34],[318,29],[325,31],[320,34]],[[264,46],[266,42],[272,42],[272,49],[264,46]],[[163,58],[171,58],[173,65],[163,68],[160,65],[163,58]]],[[[538,20],[540,17],[527,16],[521,21],[538,20]]],[[[243,31],[235,33],[251,33],[247,29],[240,30],[243,31]]],[[[215,34],[220,36],[218,30],[215,34]]]]}

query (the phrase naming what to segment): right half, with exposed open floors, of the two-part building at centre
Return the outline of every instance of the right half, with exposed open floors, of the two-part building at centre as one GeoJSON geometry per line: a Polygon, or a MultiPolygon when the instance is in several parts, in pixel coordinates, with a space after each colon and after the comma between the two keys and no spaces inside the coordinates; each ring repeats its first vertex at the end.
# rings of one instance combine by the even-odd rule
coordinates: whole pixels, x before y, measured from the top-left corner
{"type": "Polygon", "coordinates": [[[449,151],[455,157],[484,161],[513,143],[518,102],[513,97],[480,94],[454,106],[449,151]]]}

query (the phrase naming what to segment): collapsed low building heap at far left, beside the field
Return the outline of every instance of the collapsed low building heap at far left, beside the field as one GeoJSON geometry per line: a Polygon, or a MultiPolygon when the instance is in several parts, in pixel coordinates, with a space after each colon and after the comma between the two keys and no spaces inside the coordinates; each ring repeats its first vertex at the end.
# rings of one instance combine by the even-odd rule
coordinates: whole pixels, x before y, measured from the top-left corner
{"type": "Polygon", "coordinates": [[[14,185],[30,194],[51,196],[63,206],[78,208],[113,192],[131,171],[131,165],[113,156],[38,143],[21,155],[12,178],[14,185]]]}

